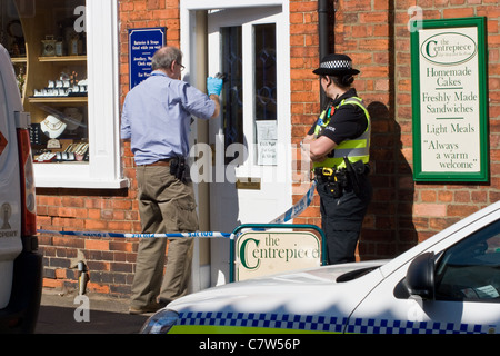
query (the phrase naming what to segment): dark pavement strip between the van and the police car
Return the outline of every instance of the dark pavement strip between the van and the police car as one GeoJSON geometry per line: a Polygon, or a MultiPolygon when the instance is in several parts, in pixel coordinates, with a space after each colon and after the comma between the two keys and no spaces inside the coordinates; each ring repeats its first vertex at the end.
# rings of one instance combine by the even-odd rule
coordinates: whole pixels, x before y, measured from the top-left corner
{"type": "Polygon", "coordinates": [[[129,300],[43,290],[36,334],[138,334],[151,315],[130,315],[129,300]]]}

